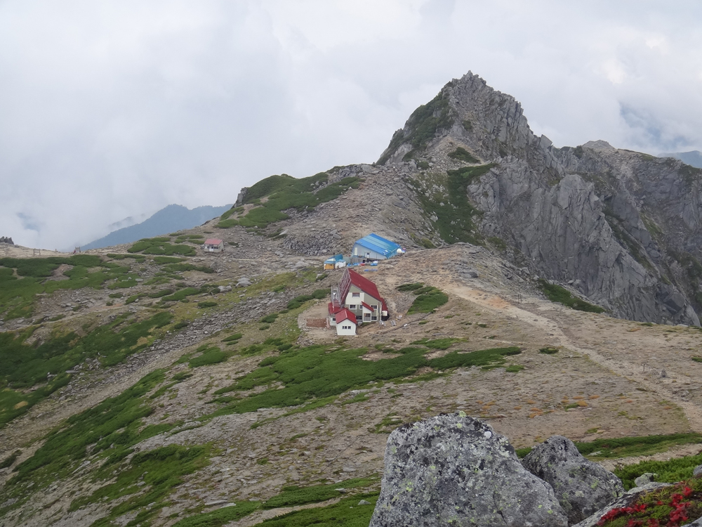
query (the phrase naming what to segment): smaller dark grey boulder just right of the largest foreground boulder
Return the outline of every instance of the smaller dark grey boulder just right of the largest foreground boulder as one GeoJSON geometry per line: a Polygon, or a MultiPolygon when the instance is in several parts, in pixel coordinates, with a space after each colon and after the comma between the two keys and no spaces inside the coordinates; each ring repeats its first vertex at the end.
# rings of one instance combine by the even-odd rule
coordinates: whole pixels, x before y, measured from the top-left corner
{"type": "Polygon", "coordinates": [[[551,436],[524,457],[522,465],[553,488],[568,515],[582,521],[624,494],[621,480],[602,465],[588,461],[569,438],[551,436]]]}

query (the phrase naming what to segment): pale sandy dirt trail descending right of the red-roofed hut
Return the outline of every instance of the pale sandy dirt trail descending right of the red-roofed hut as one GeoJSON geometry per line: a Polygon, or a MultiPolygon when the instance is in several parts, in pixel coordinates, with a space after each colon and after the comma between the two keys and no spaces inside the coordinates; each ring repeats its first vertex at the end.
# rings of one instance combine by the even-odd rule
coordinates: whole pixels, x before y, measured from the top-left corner
{"type": "MultiPolygon", "coordinates": [[[[505,300],[498,294],[487,292],[478,287],[468,287],[461,282],[443,282],[434,284],[437,287],[444,287],[451,291],[456,296],[471,301],[481,308],[490,309],[500,315],[509,318],[518,318],[528,320],[529,323],[545,334],[550,334],[557,341],[559,346],[563,346],[576,353],[582,353],[588,356],[590,360],[598,365],[607,368],[615,375],[621,375],[626,379],[636,382],[644,387],[646,391],[658,394],[662,398],[673,401],[680,406],[687,417],[690,428],[694,431],[702,431],[702,408],[692,401],[686,401],[680,397],[673,389],[665,384],[662,384],[659,379],[652,379],[650,375],[646,375],[644,370],[639,370],[638,365],[635,365],[626,360],[616,360],[602,355],[598,349],[592,346],[583,346],[580,339],[576,340],[576,336],[571,331],[571,325],[575,321],[581,325],[595,325],[600,321],[602,315],[592,313],[573,313],[571,309],[564,306],[552,304],[549,301],[528,297],[523,304],[517,306],[510,301],[505,300]],[[570,311],[570,312],[569,312],[570,311]]],[[[636,325],[637,323],[630,324],[636,325]]],[[[642,349],[641,358],[646,358],[645,350],[642,349]]],[[[649,357],[649,364],[655,362],[655,357],[649,357]]]]}

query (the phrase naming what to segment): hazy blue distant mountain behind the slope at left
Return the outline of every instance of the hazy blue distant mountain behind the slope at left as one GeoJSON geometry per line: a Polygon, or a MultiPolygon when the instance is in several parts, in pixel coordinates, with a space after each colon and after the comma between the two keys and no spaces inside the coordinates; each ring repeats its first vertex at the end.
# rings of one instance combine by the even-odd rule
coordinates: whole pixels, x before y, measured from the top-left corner
{"type": "Polygon", "coordinates": [[[135,242],[141,238],[151,238],[152,236],[173,233],[176,230],[190,229],[224,214],[225,211],[231,208],[231,204],[223,205],[222,207],[206,205],[191,210],[183,207],[183,205],[171,204],[159,210],[149,219],[136,225],[114,230],[107,236],[100,238],[100,240],[81,246],[81,249],[112,247],[112,245],[121,243],[135,242]]]}

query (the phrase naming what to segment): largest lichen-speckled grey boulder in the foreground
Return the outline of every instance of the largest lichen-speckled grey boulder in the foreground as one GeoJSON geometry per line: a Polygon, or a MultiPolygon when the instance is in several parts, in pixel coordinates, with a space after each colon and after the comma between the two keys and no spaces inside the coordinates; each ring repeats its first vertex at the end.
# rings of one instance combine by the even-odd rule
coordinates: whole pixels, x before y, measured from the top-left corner
{"type": "Polygon", "coordinates": [[[446,525],[565,527],[567,517],[507,438],[458,412],[390,434],[370,527],[446,525]]]}

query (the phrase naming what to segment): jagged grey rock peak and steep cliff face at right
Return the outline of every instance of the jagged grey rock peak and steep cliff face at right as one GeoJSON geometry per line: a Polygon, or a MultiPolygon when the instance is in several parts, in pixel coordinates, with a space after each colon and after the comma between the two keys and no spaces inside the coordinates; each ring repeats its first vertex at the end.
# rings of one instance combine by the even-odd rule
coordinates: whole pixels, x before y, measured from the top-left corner
{"type": "Polygon", "coordinates": [[[385,164],[409,155],[439,177],[460,166],[449,151],[465,148],[494,163],[467,195],[482,213],[480,234],[501,238],[515,263],[574,283],[574,293],[618,317],[699,325],[702,170],[604,141],[555,148],[529,129],[515,98],[470,72],[446,84],[439,100],[421,124],[410,120],[396,132],[385,164]],[[442,126],[417,145],[413,126],[436,122],[442,126]]]}

